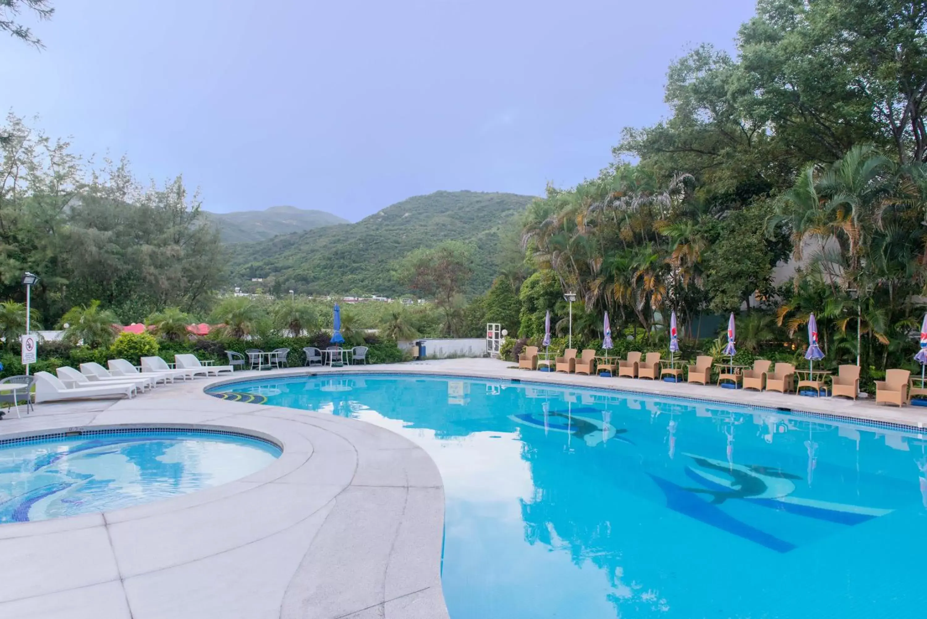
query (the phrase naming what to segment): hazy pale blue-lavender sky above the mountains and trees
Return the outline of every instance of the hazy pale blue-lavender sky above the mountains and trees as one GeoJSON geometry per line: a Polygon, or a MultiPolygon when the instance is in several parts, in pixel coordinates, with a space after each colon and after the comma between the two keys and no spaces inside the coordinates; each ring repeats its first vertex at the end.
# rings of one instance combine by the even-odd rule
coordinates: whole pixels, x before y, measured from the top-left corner
{"type": "Polygon", "coordinates": [[[213,211],[357,220],[438,189],[540,195],[667,113],[667,65],[749,0],[57,0],[0,39],[0,107],[213,211]]]}

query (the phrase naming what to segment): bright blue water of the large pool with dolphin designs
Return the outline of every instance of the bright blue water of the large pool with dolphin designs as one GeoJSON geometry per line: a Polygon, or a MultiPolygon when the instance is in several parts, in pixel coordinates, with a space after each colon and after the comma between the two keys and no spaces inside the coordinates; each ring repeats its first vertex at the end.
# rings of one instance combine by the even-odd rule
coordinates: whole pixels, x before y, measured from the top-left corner
{"type": "Polygon", "coordinates": [[[510,381],[218,389],[422,445],[445,484],[452,619],[927,612],[927,437],[916,433],[510,381]]]}

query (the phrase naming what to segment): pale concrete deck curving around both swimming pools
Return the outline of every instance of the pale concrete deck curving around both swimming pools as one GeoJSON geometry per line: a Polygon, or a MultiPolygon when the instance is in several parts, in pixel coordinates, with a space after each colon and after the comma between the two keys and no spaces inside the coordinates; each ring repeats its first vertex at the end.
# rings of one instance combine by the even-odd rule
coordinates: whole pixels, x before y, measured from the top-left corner
{"type": "MultiPolygon", "coordinates": [[[[768,406],[922,428],[927,408],[649,380],[530,372],[490,359],[311,368],[520,379],[768,406]]],[[[236,372],[235,380],[309,368],[236,372]]],[[[133,400],[43,404],[0,437],[62,428],[192,424],[284,445],[242,480],[129,509],[0,525],[0,617],[443,619],[444,492],[418,446],[355,419],[226,402],[198,379],[133,400]]]]}

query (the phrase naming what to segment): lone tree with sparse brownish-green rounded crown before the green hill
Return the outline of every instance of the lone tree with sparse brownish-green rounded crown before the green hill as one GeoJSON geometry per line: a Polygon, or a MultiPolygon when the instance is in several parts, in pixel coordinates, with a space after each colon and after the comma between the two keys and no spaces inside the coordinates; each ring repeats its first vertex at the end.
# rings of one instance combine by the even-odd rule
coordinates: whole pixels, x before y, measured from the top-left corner
{"type": "Polygon", "coordinates": [[[444,312],[444,332],[456,336],[463,316],[458,297],[473,274],[471,251],[459,241],[446,241],[433,249],[409,253],[398,265],[395,277],[410,290],[436,299],[444,312]]]}

